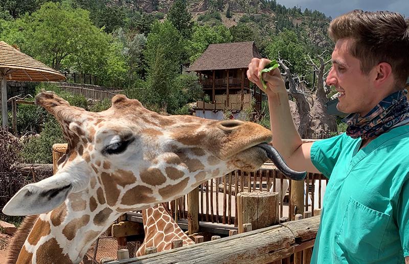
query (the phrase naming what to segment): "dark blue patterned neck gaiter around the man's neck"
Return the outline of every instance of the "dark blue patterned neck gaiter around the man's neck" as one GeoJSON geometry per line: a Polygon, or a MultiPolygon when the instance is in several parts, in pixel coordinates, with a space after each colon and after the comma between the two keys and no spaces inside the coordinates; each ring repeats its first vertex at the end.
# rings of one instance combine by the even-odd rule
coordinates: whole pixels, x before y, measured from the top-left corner
{"type": "Polygon", "coordinates": [[[401,123],[409,123],[406,90],[395,92],[380,101],[365,117],[350,114],[342,121],[348,125],[347,135],[353,139],[370,139],[401,123]],[[407,121],[407,122],[403,122],[407,121]]]}

